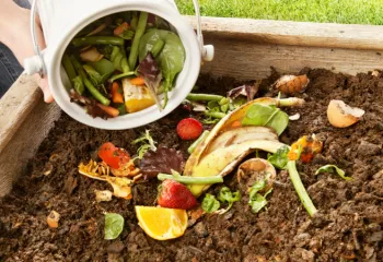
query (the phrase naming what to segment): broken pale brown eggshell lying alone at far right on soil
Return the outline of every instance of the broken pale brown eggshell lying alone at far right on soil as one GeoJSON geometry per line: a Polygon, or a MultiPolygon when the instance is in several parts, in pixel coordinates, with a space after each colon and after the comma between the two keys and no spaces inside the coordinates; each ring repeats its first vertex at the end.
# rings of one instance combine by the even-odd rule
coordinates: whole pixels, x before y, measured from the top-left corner
{"type": "Polygon", "coordinates": [[[364,115],[364,110],[350,107],[343,100],[330,100],[327,107],[327,118],[336,128],[347,128],[358,122],[364,115]]]}

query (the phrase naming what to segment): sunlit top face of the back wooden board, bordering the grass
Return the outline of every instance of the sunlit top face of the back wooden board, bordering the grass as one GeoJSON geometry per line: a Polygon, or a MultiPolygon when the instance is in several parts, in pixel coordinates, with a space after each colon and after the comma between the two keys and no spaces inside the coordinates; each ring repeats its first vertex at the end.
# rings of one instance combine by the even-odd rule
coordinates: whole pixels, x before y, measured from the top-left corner
{"type": "MultiPolygon", "coordinates": [[[[186,16],[195,26],[194,16],[186,16]]],[[[259,44],[383,50],[383,26],[202,17],[204,34],[259,44]]]]}

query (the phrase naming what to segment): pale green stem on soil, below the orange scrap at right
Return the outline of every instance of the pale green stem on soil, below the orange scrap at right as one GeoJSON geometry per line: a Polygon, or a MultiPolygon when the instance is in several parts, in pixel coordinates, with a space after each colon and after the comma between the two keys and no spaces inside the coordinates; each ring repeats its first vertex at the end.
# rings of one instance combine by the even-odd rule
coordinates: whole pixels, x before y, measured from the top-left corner
{"type": "Polygon", "coordinates": [[[292,184],[295,188],[295,191],[306,211],[309,212],[310,216],[314,216],[317,212],[316,207],[314,206],[312,200],[310,199],[310,195],[307,194],[307,191],[305,190],[301,177],[299,176],[299,172],[297,170],[297,165],[294,160],[289,160],[287,164],[287,169],[289,170],[289,176],[292,181],[292,184]]]}

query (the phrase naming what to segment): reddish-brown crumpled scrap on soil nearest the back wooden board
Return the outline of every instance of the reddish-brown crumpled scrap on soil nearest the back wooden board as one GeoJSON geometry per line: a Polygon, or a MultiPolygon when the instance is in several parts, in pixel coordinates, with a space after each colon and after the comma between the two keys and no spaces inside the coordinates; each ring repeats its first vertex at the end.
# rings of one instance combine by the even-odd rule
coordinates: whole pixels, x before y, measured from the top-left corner
{"type": "Polygon", "coordinates": [[[278,91],[287,95],[303,93],[307,87],[310,80],[307,75],[283,75],[275,83],[278,91]]]}

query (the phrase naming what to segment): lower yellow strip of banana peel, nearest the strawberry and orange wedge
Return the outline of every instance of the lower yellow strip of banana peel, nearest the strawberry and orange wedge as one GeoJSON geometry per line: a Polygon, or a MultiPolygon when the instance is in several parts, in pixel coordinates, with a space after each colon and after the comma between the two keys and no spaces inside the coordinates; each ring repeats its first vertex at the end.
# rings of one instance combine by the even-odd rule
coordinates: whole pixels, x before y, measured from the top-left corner
{"type": "MultiPolygon", "coordinates": [[[[241,144],[232,144],[206,155],[200,163],[194,166],[192,176],[210,177],[218,175],[224,177],[251,152],[263,150],[276,153],[282,146],[286,145],[278,141],[268,140],[253,140],[241,144]]],[[[209,187],[209,184],[193,184],[189,186],[189,190],[195,196],[199,196],[209,187]]]]}

